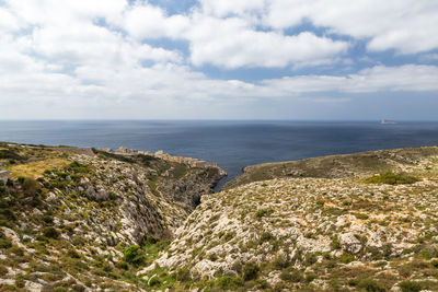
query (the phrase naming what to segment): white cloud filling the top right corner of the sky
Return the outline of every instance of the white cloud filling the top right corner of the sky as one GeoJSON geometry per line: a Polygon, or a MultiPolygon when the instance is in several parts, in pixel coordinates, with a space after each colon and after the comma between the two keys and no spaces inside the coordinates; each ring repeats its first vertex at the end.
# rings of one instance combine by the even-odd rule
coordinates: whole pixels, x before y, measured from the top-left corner
{"type": "Polygon", "coordinates": [[[438,47],[435,0],[272,0],[267,7],[264,23],[275,28],[308,20],[333,33],[369,39],[369,50],[415,54],[438,47]]]}

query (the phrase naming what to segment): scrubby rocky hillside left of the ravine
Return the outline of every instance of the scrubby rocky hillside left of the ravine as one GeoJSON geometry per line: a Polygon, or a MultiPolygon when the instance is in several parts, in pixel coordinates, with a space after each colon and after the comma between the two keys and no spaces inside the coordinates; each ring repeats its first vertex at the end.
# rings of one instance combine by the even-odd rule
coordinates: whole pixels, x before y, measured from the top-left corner
{"type": "Polygon", "coordinates": [[[134,291],[129,254],[163,248],[218,168],[68,147],[0,144],[0,290],[134,291]],[[129,249],[130,248],[130,249],[129,249]]]}

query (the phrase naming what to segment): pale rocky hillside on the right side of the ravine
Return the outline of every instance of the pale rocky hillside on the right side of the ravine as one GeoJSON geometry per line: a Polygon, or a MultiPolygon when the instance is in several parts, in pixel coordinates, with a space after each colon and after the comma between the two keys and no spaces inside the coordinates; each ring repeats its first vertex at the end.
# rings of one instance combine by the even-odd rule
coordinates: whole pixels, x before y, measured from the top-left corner
{"type": "Polygon", "coordinates": [[[139,275],[157,289],[438,291],[435,153],[358,155],[385,157],[369,173],[402,174],[274,178],[203,197],[166,252],[139,275]]]}

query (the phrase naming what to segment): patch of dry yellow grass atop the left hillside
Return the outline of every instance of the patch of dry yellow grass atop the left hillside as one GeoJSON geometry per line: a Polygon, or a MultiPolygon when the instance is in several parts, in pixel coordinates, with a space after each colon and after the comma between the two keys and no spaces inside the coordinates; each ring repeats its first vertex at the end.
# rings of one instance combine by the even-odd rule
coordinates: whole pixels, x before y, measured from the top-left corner
{"type": "Polygon", "coordinates": [[[33,177],[38,178],[47,170],[59,170],[69,165],[71,162],[64,159],[47,159],[42,161],[34,161],[25,164],[11,166],[9,171],[12,177],[33,177]]]}

